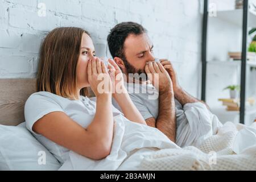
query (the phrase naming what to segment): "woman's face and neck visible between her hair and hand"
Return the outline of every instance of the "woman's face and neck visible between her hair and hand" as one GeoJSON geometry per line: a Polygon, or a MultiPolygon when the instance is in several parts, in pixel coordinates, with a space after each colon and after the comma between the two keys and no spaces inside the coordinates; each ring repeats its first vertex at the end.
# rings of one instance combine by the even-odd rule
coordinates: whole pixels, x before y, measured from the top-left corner
{"type": "Polygon", "coordinates": [[[79,89],[90,86],[87,76],[88,60],[95,56],[95,49],[89,35],[83,34],[80,48],[79,60],[77,63],[77,79],[79,89]]]}

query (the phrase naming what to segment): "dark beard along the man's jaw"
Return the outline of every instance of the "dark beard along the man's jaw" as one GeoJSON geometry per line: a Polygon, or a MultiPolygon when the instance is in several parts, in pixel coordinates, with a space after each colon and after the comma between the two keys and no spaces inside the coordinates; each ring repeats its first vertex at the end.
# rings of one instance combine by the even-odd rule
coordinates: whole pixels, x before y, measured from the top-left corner
{"type": "MultiPolygon", "coordinates": [[[[125,68],[128,74],[132,74],[133,78],[137,81],[147,81],[148,77],[144,69],[137,69],[131,65],[126,59],[123,59],[125,68]]],[[[129,76],[129,75],[128,75],[129,76]]]]}

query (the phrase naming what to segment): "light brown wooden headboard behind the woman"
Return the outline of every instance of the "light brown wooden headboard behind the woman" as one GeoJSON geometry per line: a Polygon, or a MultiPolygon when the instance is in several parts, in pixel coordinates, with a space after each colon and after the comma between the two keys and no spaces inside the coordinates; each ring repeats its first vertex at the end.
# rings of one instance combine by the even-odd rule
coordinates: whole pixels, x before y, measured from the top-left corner
{"type": "MultiPolygon", "coordinates": [[[[34,92],[36,78],[0,79],[0,125],[16,126],[24,122],[24,105],[34,92]]],[[[90,88],[88,97],[94,97],[90,88]]]]}

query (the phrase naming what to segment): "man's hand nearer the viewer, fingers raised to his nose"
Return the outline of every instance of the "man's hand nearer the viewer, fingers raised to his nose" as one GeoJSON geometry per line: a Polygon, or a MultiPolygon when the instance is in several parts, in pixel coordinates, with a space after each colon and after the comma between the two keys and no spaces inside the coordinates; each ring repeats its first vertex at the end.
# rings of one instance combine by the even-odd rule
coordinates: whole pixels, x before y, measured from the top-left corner
{"type": "Polygon", "coordinates": [[[159,93],[168,91],[173,92],[172,80],[162,64],[149,62],[145,67],[145,72],[151,83],[158,89],[159,93]]]}

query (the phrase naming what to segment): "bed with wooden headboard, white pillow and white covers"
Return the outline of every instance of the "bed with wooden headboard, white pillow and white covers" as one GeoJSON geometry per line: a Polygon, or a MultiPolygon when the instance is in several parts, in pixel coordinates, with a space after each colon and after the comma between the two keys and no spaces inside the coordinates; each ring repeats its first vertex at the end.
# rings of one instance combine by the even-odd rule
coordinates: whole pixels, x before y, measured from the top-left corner
{"type": "MultiPolygon", "coordinates": [[[[107,158],[94,161],[71,151],[71,160],[62,165],[24,123],[24,104],[36,92],[35,83],[34,78],[0,79],[0,170],[256,170],[256,126],[214,127],[214,117],[210,132],[197,137],[196,145],[180,147],[157,129],[116,116],[107,158]]],[[[208,115],[198,115],[207,108],[197,105],[196,111],[195,104],[186,105],[191,122],[208,122],[208,115]]]]}

